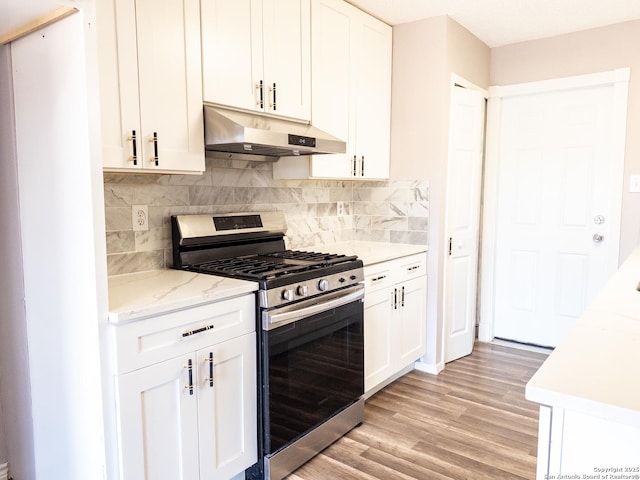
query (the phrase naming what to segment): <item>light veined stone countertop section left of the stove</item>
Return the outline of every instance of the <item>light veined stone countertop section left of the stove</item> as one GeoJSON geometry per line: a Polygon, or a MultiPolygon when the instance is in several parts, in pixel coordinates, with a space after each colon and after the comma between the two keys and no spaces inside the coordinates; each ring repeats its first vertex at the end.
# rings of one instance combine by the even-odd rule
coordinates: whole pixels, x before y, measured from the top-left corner
{"type": "Polygon", "coordinates": [[[109,277],[109,321],[123,323],[258,290],[256,282],[166,269],[109,277]]]}

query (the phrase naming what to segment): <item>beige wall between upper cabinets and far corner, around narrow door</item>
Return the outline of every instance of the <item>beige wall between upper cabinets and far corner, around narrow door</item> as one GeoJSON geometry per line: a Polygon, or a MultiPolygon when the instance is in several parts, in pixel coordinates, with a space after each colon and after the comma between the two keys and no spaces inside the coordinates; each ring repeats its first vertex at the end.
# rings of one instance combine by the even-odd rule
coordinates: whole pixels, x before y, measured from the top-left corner
{"type": "Polygon", "coordinates": [[[451,74],[489,87],[490,50],[448,17],[393,27],[391,178],[429,181],[427,353],[442,362],[442,252],[451,74]]]}

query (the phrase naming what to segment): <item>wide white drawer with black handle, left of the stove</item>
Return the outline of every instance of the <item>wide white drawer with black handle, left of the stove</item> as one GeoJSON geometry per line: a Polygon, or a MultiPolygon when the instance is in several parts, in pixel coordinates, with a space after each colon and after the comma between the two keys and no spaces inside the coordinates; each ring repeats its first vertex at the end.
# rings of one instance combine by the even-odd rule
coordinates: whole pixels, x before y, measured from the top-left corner
{"type": "Polygon", "coordinates": [[[255,296],[244,295],[114,326],[118,374],[255,330],[255,296]]]}

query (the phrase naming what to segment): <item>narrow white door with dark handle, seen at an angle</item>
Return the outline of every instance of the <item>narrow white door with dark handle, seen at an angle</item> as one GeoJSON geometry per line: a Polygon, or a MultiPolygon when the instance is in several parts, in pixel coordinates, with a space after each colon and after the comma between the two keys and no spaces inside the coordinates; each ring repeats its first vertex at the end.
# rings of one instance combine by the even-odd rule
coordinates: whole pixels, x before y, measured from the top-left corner
{"type": "Polygon", "coordinates": [[[445,362],[469,355],[475,339],[484,121],[483,93],[455,86],[447,171],[445,362]]]}

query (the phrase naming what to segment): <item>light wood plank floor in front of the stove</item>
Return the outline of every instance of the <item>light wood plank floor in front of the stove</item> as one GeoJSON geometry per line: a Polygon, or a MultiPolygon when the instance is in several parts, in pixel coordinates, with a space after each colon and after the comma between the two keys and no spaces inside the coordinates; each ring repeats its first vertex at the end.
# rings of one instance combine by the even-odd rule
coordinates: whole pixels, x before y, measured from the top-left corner
{"type": "Polygon", "coordinates": [[[411,372],[365,421],[287,480],[535,479],[538,405],[524,386],[546,358],[478,343],[440,375],[411,372]]]}

